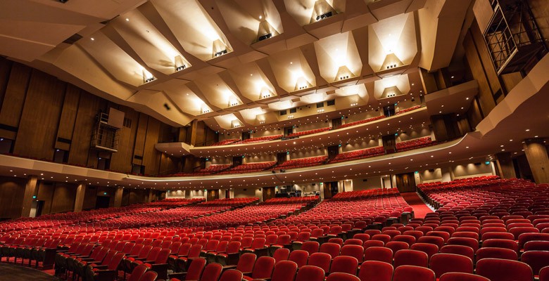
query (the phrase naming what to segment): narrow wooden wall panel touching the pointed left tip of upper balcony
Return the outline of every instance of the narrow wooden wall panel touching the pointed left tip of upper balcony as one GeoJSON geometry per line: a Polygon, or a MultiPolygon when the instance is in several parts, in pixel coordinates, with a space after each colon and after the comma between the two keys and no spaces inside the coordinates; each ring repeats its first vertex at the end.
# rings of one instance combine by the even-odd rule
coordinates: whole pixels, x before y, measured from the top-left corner
{"type": "Polygon", "coordinates": [[[143,166],[145,166],[145,174],[156,175],[160,169],[160,152],[154,148],[158,143],[160,134],[160,121],[149,117],[147,124],[147,133],[143,150],[143,166]]]}

